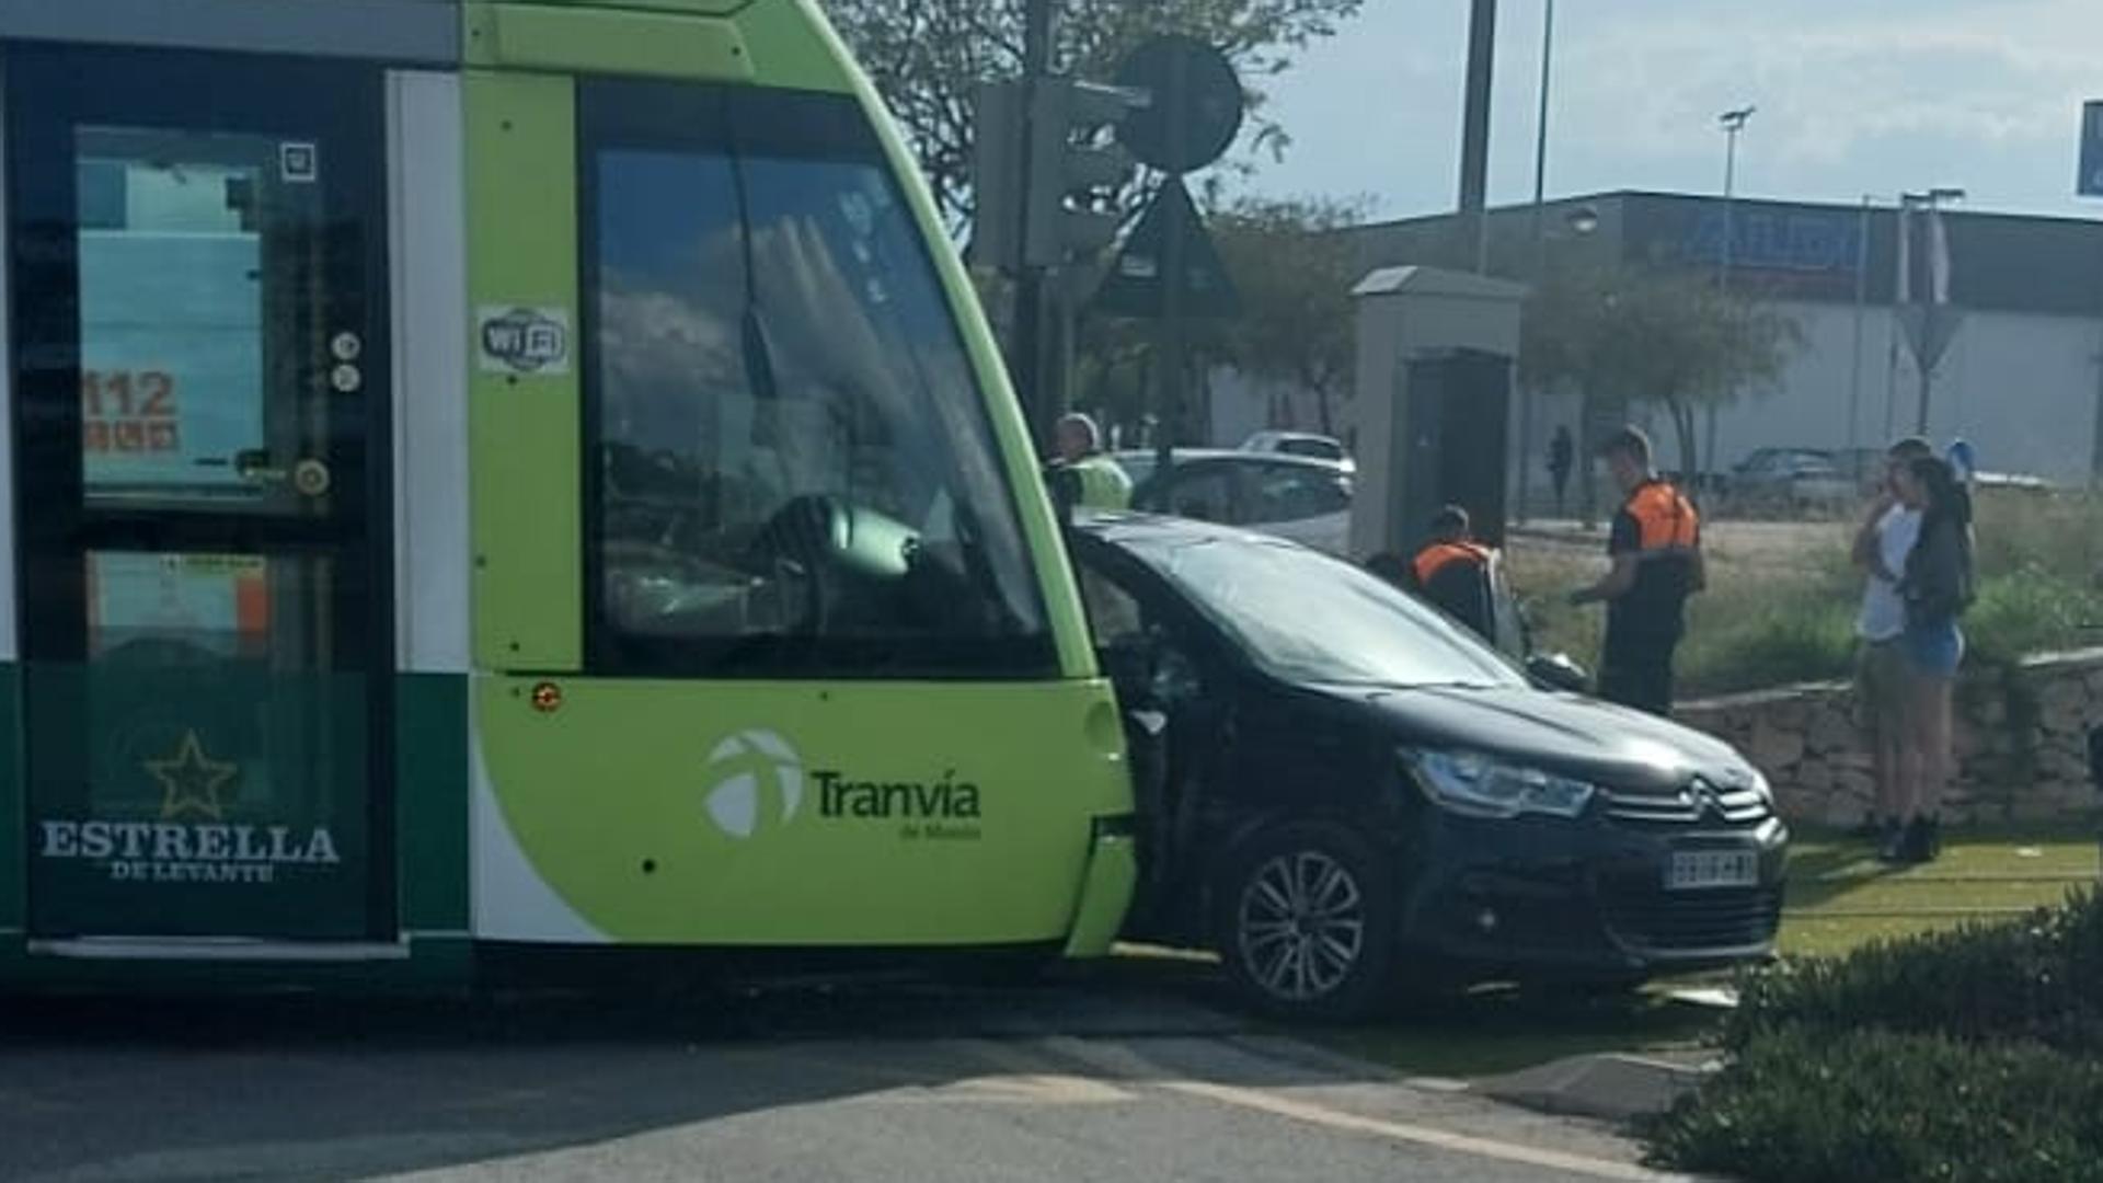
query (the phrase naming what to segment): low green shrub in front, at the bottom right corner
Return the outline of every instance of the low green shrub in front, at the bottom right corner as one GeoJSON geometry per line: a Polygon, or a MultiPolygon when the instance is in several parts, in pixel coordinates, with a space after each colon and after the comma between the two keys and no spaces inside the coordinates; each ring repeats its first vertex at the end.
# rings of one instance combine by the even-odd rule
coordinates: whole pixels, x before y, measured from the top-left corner
{"type": "Polygon", "coordinates": [[[1655,1166],[1754,1183],[2099,1183],[2103,1065],[1788,1025],[1640,1132],[1655,1166]]]}

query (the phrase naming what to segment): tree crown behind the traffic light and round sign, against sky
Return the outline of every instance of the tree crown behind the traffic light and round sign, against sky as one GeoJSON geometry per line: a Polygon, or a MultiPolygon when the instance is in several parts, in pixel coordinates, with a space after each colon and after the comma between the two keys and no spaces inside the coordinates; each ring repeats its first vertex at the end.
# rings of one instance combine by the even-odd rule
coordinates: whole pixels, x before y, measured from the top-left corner
{"type": "MultiPolygon", "coordinates": [[[[972,93],[1022,72],[1026,0],[833,0],[841,36],[890,103],[919,156],[942,213],[963,227],[972,210],[972,93]]],[[[1262,118],[1258,80],[1291,65],[1293,51],[1335,32],[1363,0],[1052,0],[1054,67],[1106,80],[1148,36],[1180,32],[1211,42],[1241,72],[1253,112],[1253,147],[1283,154],[1289,137],[1262,118]]]]}

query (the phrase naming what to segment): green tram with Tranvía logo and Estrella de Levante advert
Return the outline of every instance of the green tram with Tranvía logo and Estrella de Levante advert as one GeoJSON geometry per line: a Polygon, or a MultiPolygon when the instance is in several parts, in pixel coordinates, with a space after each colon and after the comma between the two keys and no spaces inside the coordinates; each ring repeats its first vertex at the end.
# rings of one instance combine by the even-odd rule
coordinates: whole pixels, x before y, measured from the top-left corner
{"type": "Polygon", "coordinates": [[[1106,951],[1117,705],[812,0],[0,4],[0,987],[1106,951]]]}

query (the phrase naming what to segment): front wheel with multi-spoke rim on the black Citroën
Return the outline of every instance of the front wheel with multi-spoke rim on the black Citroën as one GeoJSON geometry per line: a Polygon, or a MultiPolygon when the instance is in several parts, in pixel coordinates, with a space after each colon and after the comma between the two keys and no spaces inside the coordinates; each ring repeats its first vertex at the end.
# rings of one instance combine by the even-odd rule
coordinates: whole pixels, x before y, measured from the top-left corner
{"type": "Polygon", "coordinates": [[[1258,836],[1220,878],[1218,947],[1234,991],[1285,1021],[1367,1019],[1398,1002],[1394,880],[1333,823],[1258,836]]]}

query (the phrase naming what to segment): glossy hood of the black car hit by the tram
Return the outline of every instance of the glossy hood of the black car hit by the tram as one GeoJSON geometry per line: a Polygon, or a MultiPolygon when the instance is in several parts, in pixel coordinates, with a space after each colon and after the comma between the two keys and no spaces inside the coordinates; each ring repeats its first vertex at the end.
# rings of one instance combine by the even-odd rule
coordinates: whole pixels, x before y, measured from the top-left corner
{"type": "Polygon", "coordinates": [[[1731,745],[1693,728],[1533,688],[1321,686],[1359,699],[1396,743],[1483,751],[1624,791],[1666,791],[1691,777],[1735,783],[1752,766],[1731,745]]]}

